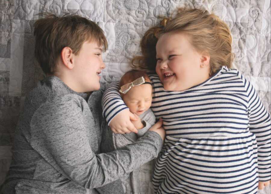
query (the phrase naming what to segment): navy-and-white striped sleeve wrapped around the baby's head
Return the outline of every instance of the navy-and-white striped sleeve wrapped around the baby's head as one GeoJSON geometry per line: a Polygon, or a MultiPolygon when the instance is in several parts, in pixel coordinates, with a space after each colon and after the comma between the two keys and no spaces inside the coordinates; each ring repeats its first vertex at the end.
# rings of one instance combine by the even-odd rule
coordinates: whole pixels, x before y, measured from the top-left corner
{"type": "Polygon", "coordinates": [[[104,92],[102,97],[103,116],[106,119],[108,125],[111,120],[120,111],[127,109],[128,107],[123,102],[120,93],[118,92],[119,81],[112,82],[104,92]]]}

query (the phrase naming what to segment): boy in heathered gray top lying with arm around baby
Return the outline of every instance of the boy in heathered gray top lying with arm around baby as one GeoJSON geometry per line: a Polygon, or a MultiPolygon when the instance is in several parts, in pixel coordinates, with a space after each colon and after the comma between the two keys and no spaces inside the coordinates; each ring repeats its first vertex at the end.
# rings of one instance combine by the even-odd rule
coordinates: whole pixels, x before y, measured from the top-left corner
{"type": "Polygon", "coordinates": [[[101,28],[83,17],[53,14],[34,28],[35,58],[48,77],[26,97],[1,192],[98,193],[95,188],[157,157],[161,122],[134,144],[99,154],[105,122],[97,90],[107,49],[101,28]]]}

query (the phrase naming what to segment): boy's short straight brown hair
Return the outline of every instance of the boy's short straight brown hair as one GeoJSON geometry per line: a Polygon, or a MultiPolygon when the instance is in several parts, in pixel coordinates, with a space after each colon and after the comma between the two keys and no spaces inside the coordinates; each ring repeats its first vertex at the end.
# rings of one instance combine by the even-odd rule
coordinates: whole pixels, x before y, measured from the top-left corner
{"type": "Polygon", "coordinates": [[[107,40],[103,30],[84,17],[43,13],[45,18],[34,24],[35,60],[46,75],[52,75],[56,70],[56,62],[61,51],[68,46],[77,55],[87,40],[97,41],[98,46],[107,49],[107,40]]]}

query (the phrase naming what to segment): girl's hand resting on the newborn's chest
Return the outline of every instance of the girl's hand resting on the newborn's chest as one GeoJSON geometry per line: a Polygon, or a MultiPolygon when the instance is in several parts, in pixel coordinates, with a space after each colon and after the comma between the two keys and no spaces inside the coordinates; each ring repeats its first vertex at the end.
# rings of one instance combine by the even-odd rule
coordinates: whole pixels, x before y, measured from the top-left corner
{"type": "Polygon", "coordinates": [[[118,113],[110,122],[109,126],[114,133],[137,133],[136,127],[130,121],[136,121],[136,116],[129,111],[129,109],[125,109],[118,113]]]}

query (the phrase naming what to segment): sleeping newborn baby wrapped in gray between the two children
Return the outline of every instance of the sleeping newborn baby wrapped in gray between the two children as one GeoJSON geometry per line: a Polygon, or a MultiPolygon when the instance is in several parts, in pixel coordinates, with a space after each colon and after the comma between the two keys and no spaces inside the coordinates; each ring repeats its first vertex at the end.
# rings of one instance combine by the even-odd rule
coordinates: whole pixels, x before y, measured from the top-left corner
{"type": "MultiPolygon", "coordinates": [[[[114,133],[109,126],[105,126],[106,129],[103,130],[101,141],[101,152],[103,153],[123,149],[126,145],[135,143],[138,138],[142,137],[151,128],[151,126],[155,124],[155,116],[150,109],[152,99],[152,84],[150,83],[148,75],[141,71],[127,72],[120,81],[120,86],[127,84],[127,82],[130,83],[134,81],[135,78],[137,79],[140,76],[145,77],[145,83],[132,86],[129,91],[125,92],[124,94],[121,93],[122,99],[129,108],[130,112],[134,113],[138,118],[137,121],[132,121],[134,126],[138,129],[138,133],[114,133]],[[132,75],[135,74],[137,74],[136,77],[132,77],[132,75]]],[[[154,163],[154,160],[152,160],[143,164],[142,166],[139,166],[138,169],[131,173],[127,173],[126,176],[122,177],[120,179],[121,181],[117,180],[100,188],[99,192],[121,193],[120,188],[122,188],[122,182],[124,193],[154,193],[151,184],[154,163]]]]}

